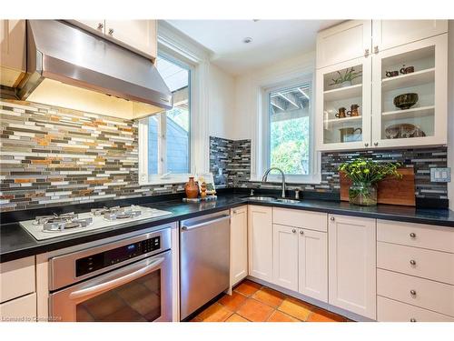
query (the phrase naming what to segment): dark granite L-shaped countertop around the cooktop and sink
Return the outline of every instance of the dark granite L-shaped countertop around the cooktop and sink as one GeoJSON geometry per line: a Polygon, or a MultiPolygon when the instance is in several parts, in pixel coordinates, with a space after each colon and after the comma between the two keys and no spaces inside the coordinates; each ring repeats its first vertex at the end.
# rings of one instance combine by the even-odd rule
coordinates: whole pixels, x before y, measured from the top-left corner
{"type": "Polygon", "coordinates": [[[283,204],[252,201],[245,196],[244,193],[224,194],[218,196],[217,201],[200,204],[183,203],[181,199],[154,201],[149,204],[140,203],[139,205],[142,206],[153,206],[166,211],[171,211],[173,215],[141,220],[140,224],[137,224],[137,222],[124,223],[121,226],[106,227],[87,233],[62,236],[44,241],[36,241],[35,238],[29,235],[18,222],[2,224],[0,228],[0,263],[25,256],[38,255],[67,246],[83,244],[109,236],[117,236],[147,227],[168,224],[194,216],[202,216],[235,206],[242,206],[246,203],[258,206],[280,206],[346,216],[364,216],[377,219],[454,227],[454,212],[449,209],[390,205],[372,207],[351,206],[346,202],[326,200],[302,200],[300,203],[283,204]]]}

